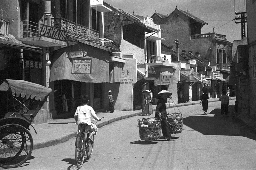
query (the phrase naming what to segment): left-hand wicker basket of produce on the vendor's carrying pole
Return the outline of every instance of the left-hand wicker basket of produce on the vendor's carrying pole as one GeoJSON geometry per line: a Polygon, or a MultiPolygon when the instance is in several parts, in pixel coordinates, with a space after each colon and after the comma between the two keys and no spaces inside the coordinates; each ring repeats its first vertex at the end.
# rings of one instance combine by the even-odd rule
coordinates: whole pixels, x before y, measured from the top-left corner
{"type": "Polygon", "coordinates": [[[161,119],[143,118],[138,119],[141,140],[157,140],[161,132],[161,119]]]}

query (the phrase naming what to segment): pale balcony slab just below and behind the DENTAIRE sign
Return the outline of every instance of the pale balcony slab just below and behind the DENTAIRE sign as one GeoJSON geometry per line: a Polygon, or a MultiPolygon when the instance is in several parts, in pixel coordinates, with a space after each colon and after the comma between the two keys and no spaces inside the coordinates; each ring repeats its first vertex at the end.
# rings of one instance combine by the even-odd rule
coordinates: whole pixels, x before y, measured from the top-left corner
{"type": "Polygon", "coordinates": [[[65,41],[55,40],[48,37],[26,37],[20,38],[24,44],[37,46],[37,47],[55,47],[55,46],[67,46],[65,41]]]}

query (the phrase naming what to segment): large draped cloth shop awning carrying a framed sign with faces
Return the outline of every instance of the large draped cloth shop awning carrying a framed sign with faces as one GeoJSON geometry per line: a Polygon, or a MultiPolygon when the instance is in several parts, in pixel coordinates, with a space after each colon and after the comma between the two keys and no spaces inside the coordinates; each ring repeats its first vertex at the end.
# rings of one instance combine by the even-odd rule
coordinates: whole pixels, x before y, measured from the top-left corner
{"type": "MultiPolygon", "coordinates": [[[[66,79],[85,83],[109,82],[108,61],[108,51],[94,48],[83,43],[77,43],[73,46],[61,48],[53,52],[50,81],[66,79]],[[82,70],[79,70],[85,68],[83,67],[83,64],[79,65],[81,68],[77,68],[77,70],[72,73],[72,64],[77,62],[73,62],[74,58],[68,57],[68,52],[81,50],[85,51],[87,55],[81,58],[76,58],[76,60],[79,59],[81,60],[80,62],[86,61],[87,64],[89,62],[91,64],[89,68],[90,73],[88,71],[83,72],[82,70]]],[[[73,69],[76,69],[76,65],[73,65],[73,69]]]]}

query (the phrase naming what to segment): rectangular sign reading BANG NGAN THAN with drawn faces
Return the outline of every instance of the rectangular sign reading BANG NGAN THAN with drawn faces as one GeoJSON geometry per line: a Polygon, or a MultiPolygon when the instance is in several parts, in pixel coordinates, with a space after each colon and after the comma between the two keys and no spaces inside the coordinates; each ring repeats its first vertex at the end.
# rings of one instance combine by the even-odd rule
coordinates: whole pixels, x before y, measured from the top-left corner
{"type": "Polygon", "coordinates": [[[91,74],[92,73],[92,59],[73,59],[72,60],[72,74],[91,74]]]}

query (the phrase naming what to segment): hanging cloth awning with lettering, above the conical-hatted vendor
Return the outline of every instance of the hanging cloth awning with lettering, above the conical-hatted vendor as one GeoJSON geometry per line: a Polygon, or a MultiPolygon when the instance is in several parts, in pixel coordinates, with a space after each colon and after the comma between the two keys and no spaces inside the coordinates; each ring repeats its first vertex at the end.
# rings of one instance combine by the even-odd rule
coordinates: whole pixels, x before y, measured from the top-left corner
{"type": "Polygon", "coordinates": [[[170,85],[173,82],[174,68],[156,67],[156,80],[154,85],[170,85]]]}

